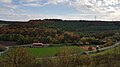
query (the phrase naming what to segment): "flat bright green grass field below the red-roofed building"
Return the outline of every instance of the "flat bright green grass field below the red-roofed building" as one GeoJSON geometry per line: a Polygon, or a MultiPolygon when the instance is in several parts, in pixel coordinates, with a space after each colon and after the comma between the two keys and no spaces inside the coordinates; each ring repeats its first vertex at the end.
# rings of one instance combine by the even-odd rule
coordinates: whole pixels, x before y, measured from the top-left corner
{"type": "MultiPolygon", "coordinates": [[[[27,48],[27,50],[33,56],[49,57],[49,56],[55,56],[60,51],[60,49],[63,47],[27,48]]],[[[79,52],[84,51],[83,49],[77,46],[66,46],[66,47],[70,48],[71,50],[72,49],[78,50],[79,52]]]]}

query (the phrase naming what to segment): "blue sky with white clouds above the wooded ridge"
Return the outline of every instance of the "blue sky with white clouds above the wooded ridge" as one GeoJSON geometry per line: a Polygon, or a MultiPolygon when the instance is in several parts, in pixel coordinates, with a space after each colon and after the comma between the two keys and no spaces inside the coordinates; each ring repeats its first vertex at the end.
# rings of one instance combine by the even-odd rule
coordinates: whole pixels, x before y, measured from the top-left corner
{"type": "Polygon", "coordinates": [[[0,0],[0,20],[120,20],[120,0],[0,0]]]}

